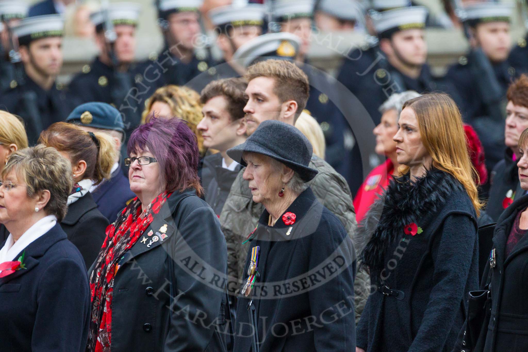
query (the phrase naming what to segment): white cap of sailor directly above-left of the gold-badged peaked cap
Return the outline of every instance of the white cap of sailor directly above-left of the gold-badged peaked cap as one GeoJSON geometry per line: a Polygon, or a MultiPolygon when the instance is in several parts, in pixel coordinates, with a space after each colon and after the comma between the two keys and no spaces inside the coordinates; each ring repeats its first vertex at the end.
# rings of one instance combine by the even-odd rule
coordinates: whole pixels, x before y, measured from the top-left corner
{"type": "Polygon", "coordinates": [[[213,8],[209,11],[209,17],[214,26],[256,25],[264,23],[266,8],[261,4],[227,5],[213,8]]]}

